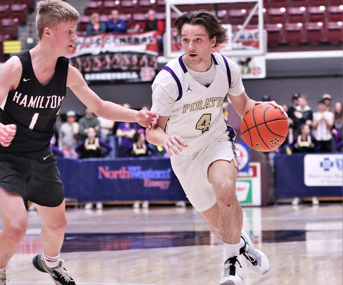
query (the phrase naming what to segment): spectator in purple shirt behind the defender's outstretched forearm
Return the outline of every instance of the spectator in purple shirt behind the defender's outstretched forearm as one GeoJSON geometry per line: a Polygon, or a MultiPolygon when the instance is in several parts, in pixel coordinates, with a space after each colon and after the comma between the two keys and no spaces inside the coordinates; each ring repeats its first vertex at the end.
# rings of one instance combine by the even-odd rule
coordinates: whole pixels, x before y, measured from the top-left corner
{"type": "MultiPolygon", "coordinates": [[[[123,104],[123,107],[130,108],[129,104],[123,104]]],[[[119,156],[126,157],[130,155],[130,150],[132,149],[132,138],[134,133],[138,129],[138,124],[136,122],[120,122],[116,132],[119,145],[119,156]]]]}

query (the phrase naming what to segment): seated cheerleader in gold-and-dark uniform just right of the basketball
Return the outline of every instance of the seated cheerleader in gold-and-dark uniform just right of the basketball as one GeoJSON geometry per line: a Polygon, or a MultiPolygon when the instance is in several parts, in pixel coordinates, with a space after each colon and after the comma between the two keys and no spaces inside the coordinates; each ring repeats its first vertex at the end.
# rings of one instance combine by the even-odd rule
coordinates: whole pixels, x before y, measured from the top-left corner
{"type": "Polygon", "coordinates": [[[320,149],[319,142],[310,133],[311,129],[307,124],[301,125],[299,135],[291,143],[293,153],[316,152],[320,149]]]}

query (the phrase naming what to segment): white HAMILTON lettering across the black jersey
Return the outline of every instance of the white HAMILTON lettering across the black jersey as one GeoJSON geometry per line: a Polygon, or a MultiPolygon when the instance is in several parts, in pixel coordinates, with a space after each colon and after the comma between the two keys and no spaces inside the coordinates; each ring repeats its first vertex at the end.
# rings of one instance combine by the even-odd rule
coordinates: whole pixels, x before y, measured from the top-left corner
{"type": "Polygon", "coordinates": [[[61,105],[61,101],[64,96],[33,96],[33,95],[23,95],[22,93],[15,92],[13,96],[13,101],[21,106],[27,108],[51,108],[55,109],[61,105]]]}

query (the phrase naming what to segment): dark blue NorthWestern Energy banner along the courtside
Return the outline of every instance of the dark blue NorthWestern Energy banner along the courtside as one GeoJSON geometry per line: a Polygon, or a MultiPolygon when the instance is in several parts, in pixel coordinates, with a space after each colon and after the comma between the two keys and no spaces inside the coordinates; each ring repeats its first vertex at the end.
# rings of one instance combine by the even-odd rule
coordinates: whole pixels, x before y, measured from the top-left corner
{"type": "Polygon", "coordinates": [[[169,158],[59,158],[57,167],[66,197],[79,202],[187,200],[169,158]]]}

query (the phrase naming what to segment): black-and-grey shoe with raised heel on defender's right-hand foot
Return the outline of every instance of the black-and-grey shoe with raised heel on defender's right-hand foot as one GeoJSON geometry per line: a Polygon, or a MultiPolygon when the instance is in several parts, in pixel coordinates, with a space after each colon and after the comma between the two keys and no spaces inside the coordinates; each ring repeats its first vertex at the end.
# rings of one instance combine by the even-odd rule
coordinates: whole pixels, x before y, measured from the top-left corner
{"type": "Polygon", "coordinates": [[[50,268],[45,264],[42,254],[36,255],[32,260],[33,266],[41,272],[49,273],[55,284],[60,285],[74,285],[74,279],[70,273],[64,268],[64,260],[60,259],[60,266],[57,268],[50,268]]]}

